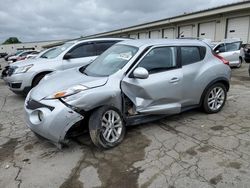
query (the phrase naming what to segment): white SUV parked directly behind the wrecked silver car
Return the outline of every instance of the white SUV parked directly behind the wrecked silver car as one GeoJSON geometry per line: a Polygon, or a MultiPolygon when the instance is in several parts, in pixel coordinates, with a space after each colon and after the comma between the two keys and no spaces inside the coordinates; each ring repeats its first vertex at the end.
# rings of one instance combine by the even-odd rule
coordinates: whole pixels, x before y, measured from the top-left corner
{"type": "Polygon", "coordinates": [[[4,80],[11,91],[26,95],[46,74],[87,65],[110,46],[122,40],[128,39],[99,38],[67,42],[43,58],[11,64],[4,80]]]}

